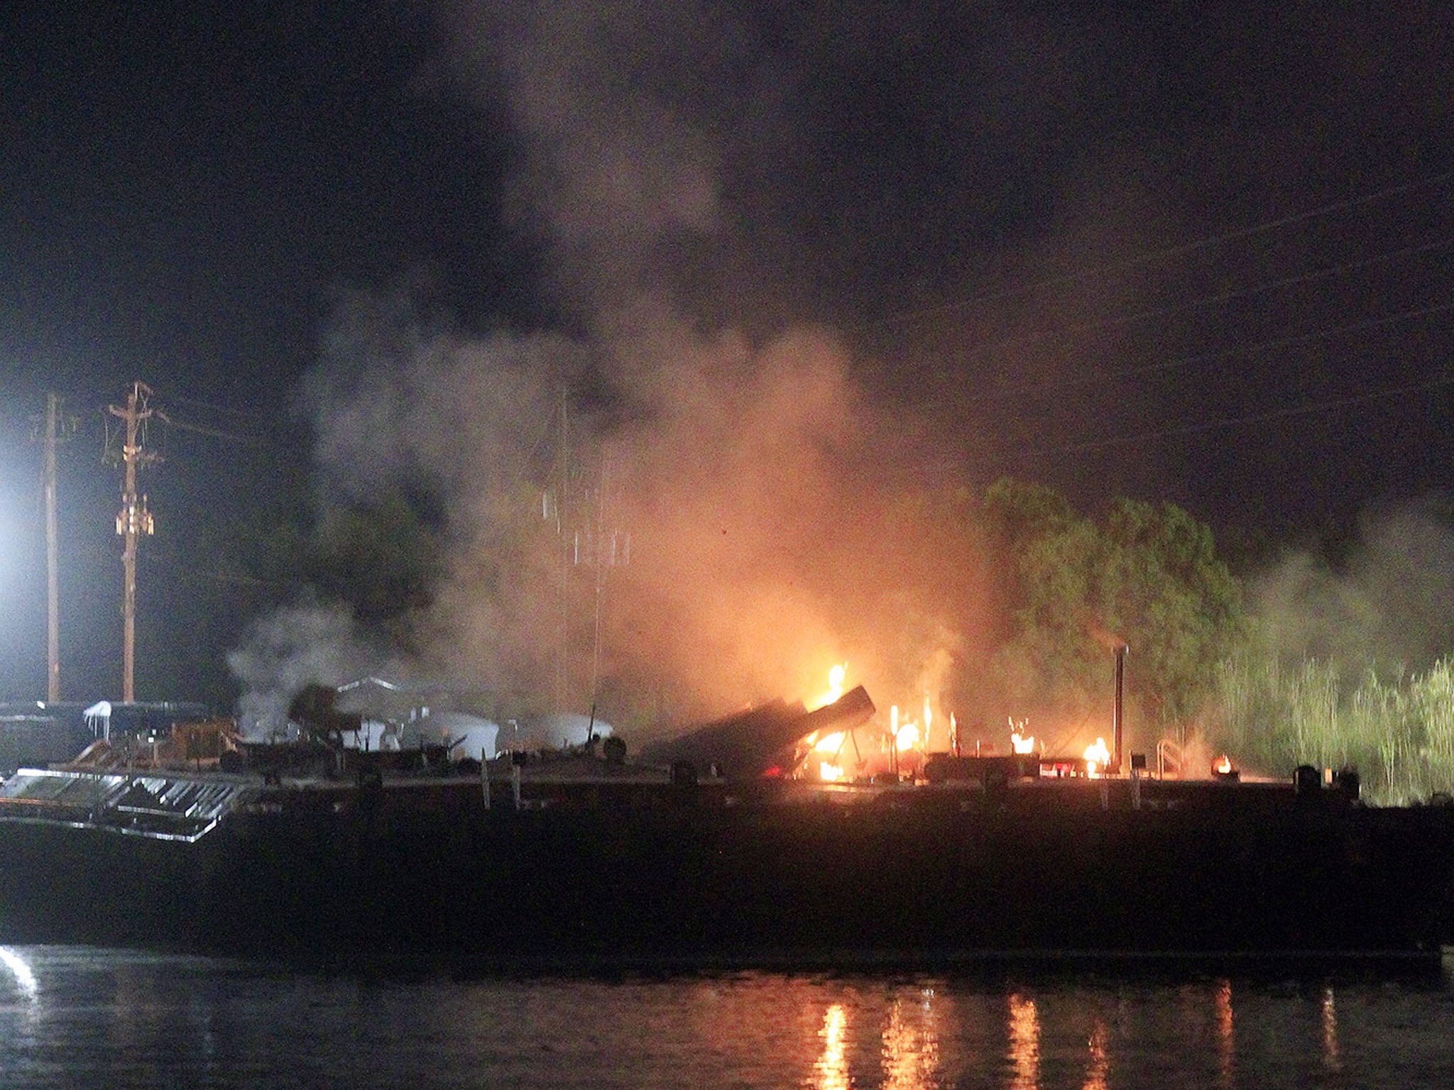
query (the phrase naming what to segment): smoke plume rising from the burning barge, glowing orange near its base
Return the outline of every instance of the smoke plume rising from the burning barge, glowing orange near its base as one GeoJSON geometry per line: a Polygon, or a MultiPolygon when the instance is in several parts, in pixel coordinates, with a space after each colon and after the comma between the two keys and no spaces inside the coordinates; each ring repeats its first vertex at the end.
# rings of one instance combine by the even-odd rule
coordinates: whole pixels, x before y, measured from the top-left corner
{"type": "MultiPolygon", "coordinates": [[[[760,253],[723,164],[798,140],[792,77],[694,4],[459,6],[443,25],[471,94],[503,96],[507,203],[576,331],[465,339],[407,294],[336,308],[305,382],[320,504],[423,483],[446,513],[410,669],[577,708],[650,692],[675,718],[811,699],[846,661],[881,699],[942,706],[984,612],[952,510],[968,496],[915,469],[942,439],[871,404],[827,328],[704,323],[730,310],[704,292],[760,253]]],[[[286,650],[268,631],[240,676],[286,650]]]]}

